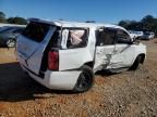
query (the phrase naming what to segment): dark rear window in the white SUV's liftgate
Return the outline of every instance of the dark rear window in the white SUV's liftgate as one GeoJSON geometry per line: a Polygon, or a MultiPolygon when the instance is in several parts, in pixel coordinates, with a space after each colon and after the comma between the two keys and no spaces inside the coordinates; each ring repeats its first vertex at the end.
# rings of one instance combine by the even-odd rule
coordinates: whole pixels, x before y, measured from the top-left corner
{"type": "Polygon", "coordinates": [[[36,42],[41,42],[48,30],[49,25],[41,23],[29,23],[22,35],[36,42]]]}

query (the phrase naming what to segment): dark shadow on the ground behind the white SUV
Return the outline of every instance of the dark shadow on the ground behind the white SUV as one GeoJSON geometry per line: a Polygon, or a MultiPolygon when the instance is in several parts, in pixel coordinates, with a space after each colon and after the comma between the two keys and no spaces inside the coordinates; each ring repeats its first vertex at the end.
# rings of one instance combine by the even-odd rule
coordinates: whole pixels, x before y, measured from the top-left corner
{"type": "Polygon", "coordinates": [[[71,91],[56,91],[43,87],[28,77],[19,63],[0,64],[0,102],[21,102],[47,99],[55,94],[73,94],[71,91]],[[45,94],[49,93],[49,96],[45,94]]]}

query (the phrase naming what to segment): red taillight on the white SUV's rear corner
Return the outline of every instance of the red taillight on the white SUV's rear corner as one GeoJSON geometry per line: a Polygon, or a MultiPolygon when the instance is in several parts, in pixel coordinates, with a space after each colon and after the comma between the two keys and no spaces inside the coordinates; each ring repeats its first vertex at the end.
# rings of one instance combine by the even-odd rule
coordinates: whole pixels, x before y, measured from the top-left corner
{"type": "Polygon", "coordinates": [[[59,69],[59,53],[58,52],[49,52],[48,53],[48,68],[51,70],[59,69]]]}

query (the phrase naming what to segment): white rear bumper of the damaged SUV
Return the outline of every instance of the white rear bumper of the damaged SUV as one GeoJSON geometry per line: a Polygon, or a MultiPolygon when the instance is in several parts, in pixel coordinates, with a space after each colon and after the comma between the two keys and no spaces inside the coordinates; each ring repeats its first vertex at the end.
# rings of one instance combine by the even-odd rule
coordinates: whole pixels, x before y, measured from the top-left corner
{"type": "Polygon", "coordinates": [[[40,78],[39,76],[33,74],[28,69],[26,69],[22,64],[22,68],[24,72],[28,73],[28,75],[35,79],[37,82],[49,89],[56,90],[73,90],[76,84],[77,78],[81,74],[78,70],[70,70],[70,72],[51,72],[47,70],[45,73],[45,77],[40,78]]]}

